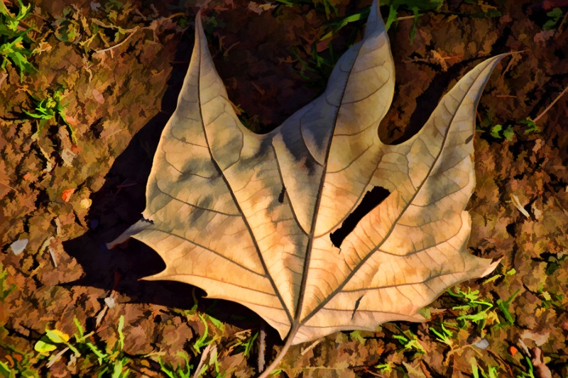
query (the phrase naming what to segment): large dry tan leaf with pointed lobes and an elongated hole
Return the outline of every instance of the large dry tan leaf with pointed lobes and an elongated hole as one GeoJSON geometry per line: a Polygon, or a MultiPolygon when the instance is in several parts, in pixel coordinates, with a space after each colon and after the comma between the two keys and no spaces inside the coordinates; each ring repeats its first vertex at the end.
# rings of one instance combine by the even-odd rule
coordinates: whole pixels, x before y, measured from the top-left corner
{"type": "Polygon", "coordinates": [[[169,279],[255,311],[286,347],[338,330],[422,321],[418,311],[497,262],[466,251],[481,91],[501,57],[447,93],[425,126],[386,145],[394,65],[375,1],[363,40],[337,62],[324,94],[266,135],[227,99],[200,16],[178,107],[165,126],[129,236],[160,254],[169,279]],[[388,196],[346,236],[330,235],[373,188],[388,196]],[[341,240],[343,239],[343,240],[341,240]]]}

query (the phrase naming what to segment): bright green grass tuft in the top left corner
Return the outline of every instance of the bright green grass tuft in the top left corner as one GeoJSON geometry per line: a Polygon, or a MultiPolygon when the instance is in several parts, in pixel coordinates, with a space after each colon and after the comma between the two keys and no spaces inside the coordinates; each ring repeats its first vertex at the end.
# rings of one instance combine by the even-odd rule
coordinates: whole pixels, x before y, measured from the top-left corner
{"type": "Polygon", "coordinates": [[[21,28],[21,21],[25,20],[31,12],[31,4],[28,6],[23,5],[21,0],[18,0],[18,14],[14,16],[0,1],[0,58],[2,71],[6,72],[6,65],[13,65],[20,74],[20,82],[23,82],[23,74],[35,71],[35,67],[28,61],[31,57],[32,51],[26,48],[30,45],[32,40],[28,37],[28,32],[33,29],[33,26],[21,28]]]}

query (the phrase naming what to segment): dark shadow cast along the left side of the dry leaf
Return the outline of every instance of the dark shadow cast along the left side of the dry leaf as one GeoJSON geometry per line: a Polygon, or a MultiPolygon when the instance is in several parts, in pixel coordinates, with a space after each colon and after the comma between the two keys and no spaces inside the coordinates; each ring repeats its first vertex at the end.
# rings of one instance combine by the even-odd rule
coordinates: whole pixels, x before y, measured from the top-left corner
{"type": "Polygon", "coordinates": [[[146,182],[153,155],[160,134],[175,110],[189,65],[194,42],[188,35],[191,33],[189,30],[180,37],[168,88],[161,99],[162,110],[133,136],[124,152],[116,157],[101,189],[92,194],[92,205],[85,219],[89,230],[63,243],[65,251],[75,258],[83,273],[80,279],[61,286],[69,289],[94,287],[109,293],[114,289],[129,297],[130,304],[155,304],[181,310],[195,305],[192,291],[196,289],[200,311],[239,328],[258,328],[261,318],[240,304],[201,298],[205,296],[202,289],[181,282],[141,280],[162,271],[165,263],[158,253],[138,240],[129,240],[113,250],[108,250],[105,245],[138,221],[146,206],[146,182]]]}

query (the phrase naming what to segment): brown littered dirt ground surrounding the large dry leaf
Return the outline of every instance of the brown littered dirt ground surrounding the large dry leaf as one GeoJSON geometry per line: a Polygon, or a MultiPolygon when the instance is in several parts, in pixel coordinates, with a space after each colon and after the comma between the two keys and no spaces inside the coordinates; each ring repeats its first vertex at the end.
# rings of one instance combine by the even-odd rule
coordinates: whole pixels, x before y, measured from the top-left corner
{"type": "MultiPolygon", "coordinates": [[[[195,3],[38,0],[26,18],[37,70],[22,81],[13,65],[0,72],[0,374],[166,377],[185,356],[192,374],[202,362],[205,377],[250,377],[261,328],[266,360],[281,347],[244,307],[185,284],[139,281],[165,267],[146,245],[104,243],[144,209],[200,7],[229,98],[247,126],[267,132],[321,93],[364,22],[320,38],[370,1],[195,3]],[[56,93],[65,112],[36,138],[39,120],[28,113],[56,93]],[[92,335],[73,338],[77,323],[92,335]],[[46,329],[71,338],[51,338],[55,348],[38,352],[46,329]]],[[[389,30],[395,99],[379,134],[388,143],[410,138],[471,67],[515,52],[479,104],[469,205],[471,253],[501,264],[442,295],[427,323],[293,347],[280,377],[568,376],[568,94],[557,99],[568,86],[568,2],[443,3],[422,11],[415,30],[413,13],[399,9],[389,30]]],[[[386,18],[388,6],[381,11],[386,18]]]]}

